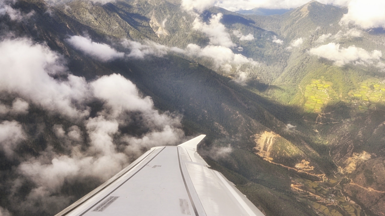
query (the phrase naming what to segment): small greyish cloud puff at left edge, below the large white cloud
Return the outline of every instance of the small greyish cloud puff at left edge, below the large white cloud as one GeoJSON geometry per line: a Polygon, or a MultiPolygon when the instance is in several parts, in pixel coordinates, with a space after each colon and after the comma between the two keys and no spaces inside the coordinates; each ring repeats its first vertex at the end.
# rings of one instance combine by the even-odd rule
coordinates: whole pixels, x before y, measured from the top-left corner
{"type": "Polygon", "coordinates": [[[15,148],[25,138],[23,128],[17,121],[0,123],[0,149],[8,158],[13,157],[15,148]]]}

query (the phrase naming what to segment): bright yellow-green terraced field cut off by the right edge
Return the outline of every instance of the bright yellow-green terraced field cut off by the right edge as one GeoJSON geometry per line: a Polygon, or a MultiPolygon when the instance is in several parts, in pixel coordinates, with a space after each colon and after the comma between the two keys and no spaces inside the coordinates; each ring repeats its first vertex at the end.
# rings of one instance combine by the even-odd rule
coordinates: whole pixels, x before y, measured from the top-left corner
{"type": "Polygon", "coordinates": [[[358,90],[349,92],[351,102],[348,102],[357,113],[375,110],[378,104],[385,104],[385,81],[370,78],[360,83],[358,90]]]}

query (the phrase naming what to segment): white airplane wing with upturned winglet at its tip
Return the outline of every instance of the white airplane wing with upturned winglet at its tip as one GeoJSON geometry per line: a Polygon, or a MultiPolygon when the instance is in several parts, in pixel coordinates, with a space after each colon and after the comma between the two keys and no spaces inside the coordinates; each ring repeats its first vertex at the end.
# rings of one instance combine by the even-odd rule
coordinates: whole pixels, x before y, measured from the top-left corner
{"type": "Polygon", "coordinates": [[[151,148],[56,216],[263,216],[196,152],[204,136],[151,148]]]}

